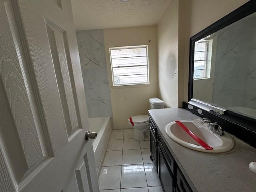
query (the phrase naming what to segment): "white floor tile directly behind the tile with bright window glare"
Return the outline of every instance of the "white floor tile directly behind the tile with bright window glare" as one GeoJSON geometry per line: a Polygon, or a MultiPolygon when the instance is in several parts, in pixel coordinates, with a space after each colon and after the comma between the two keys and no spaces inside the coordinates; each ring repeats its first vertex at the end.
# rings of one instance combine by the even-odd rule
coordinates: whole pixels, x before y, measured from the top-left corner
{"type": "Polygon", "coordinates": [[[140,149],[124,150],[122,165],[143,164],[140,149]]]}

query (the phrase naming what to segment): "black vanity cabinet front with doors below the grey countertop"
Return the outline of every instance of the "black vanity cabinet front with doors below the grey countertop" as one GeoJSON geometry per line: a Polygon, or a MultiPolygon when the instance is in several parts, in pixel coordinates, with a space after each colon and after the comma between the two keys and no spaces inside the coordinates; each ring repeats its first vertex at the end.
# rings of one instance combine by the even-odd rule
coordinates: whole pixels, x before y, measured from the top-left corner
{"type": "Polygon", "coordinates": [[[164,192],[192,192],[151,118],[150,152],[164,192]]]}

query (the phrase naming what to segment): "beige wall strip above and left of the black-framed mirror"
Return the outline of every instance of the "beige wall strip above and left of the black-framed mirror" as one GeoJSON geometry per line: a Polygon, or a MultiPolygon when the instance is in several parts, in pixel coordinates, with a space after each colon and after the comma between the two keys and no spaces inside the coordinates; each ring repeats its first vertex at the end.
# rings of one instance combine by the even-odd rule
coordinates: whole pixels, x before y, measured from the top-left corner
{"type": "MultiPolygon", "coordinates": [[[[236,8],[242,6],[248,0],[182,0],[184,4],[186,22],[184,34],[184,53],[180,56],[184,58],[184,83],[179,83],[179,88],[183,87],[183,100],[188,100],[188,66],[189,66],[189,38],[197,34],[204,28],[226,16],[236,8]]],[[[182,9],[179,7],[179,10],[182,9]]],[[[179,106],[181,103],[179,102],[179,106]]]]}

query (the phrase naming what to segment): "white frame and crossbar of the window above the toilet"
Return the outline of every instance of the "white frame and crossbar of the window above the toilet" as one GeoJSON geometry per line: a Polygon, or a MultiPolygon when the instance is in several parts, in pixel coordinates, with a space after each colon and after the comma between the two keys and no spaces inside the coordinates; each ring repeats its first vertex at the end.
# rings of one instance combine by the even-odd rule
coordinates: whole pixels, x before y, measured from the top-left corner
{"type": "MultiPolygon", "coordinates": [[[[126,86],[126,85],[143,85],[143,84],[150,84],[149,83],[149,61],[148,61],[148,45],[139,45],[139,46],[122,46],[122,47],[111,47],[109,48],[109,54],[110,54],[110,63],[111,63],[111,72],[112,72],[112,86],[126,86]],[[127,66],[112,66],[112,56],[111,56],[111,50],[120,50],[120,49],[132,49],[132,48],[146,48],[146,58],[147,58],[147,64],[146,65],[133,65],[129,67],[136,67],[136,66],[147,66],[147,82],[144,83],[126,83],[126,84],[115,84],[114,81],[114,70],[113,68],[127,68],[127,66]]],[[[142,75],[142,74],[141,74],[142,75]]]]}

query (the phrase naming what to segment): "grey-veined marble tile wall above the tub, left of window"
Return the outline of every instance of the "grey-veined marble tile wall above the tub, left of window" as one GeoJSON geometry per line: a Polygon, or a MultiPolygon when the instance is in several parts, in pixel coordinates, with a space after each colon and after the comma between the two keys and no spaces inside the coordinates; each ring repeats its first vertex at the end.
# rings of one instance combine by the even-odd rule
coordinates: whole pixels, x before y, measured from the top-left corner
{"type": "Polygon", "coordinates": [[[112,117],[103,30],[76,31],[89,117],[112,117]]]}

